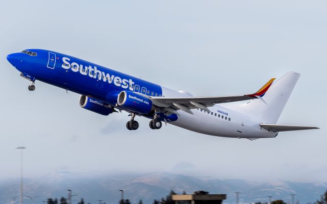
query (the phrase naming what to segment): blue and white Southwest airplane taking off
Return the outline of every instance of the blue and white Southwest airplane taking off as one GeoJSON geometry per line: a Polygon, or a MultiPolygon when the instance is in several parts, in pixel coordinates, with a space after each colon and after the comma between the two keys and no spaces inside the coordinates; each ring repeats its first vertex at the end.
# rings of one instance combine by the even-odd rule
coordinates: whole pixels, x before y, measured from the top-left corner
{"type": "Polygon", "coordinates": [[[269,80],[252,94],[195,97],[50,50],[25,49],[8,55],[7,60],[21,77],[31,81],[30,91],[38,80],[81,94],[79,105],[86,110],[101,115],[128,112],[128,130],[137,130],[136,115],[149,118],[153,130],[165,122],[201,134],[250,140],[274,138],[284,131],[319,129],[276,124],[300,77],[294,71],[269,80]],[[245,104],[232,103],[235,101],[245,104]]]}

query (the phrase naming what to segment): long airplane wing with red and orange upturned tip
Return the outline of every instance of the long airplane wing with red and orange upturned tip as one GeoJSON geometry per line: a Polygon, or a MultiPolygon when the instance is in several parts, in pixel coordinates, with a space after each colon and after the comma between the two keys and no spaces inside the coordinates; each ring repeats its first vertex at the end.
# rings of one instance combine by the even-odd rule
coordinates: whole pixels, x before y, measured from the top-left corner
{"type": "MultiPolygon", "coordinates": [[[[193,114],[191,109],[200,108],[207,112],[211,112],[207,107],[214,106],[215,104],[230,103],[235,101],[250,100],[259,98],[268,91],[275,78],[266,83],[259,91],[253,94],[239,95],[239,96],[214,96],[214,97],[151,97],[152,103],[165,109],[167,112],[178,114],[176,110],[183,110],[193,114]]],[[[263,100],[265,103],[265,101],[263,100]]]]}

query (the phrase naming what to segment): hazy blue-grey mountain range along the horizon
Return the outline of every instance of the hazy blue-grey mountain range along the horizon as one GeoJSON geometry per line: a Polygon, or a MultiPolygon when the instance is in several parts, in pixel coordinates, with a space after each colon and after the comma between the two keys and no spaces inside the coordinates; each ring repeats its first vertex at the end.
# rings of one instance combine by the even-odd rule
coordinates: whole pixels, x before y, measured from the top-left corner
{"type": "MultiPolygon", "coordinates": [[[[121,192],[133,203],[143,199],[145,204],[152,204],[153,199],[160,199],[169,194],[192,193],[197,190],[209,191],[213,194],[227,194],[224,203],[235,203],[235,193],[241,192],[240,203],[267,202],[268,195],[273,199],[290,200],[290,194],[296,194],[295,200],[300,203],[314,202],[327,189],[327,183],[298,183],[288,181],[250,182],[245,180],[219,180],[214,177],[197,177],[168,172],[148,174],[123,175],[87,175],[71,172],[53,172],[37,178],[25,179],[25,195],[38,196],[35,203],[41,203],[46,198],[59,198],[67,195],[71,189],[73,203],[84,198],[86,202],[98,203],[105,200],[108,204],[118,203],[121,192]]],[[[19,196],[19,179],[0,181],[0,204],[10,203],[13,197],[19,196]]],[[[18,203],[18,198],[16,202],[18,203]]],[[[32,203],[25,198],[25,203],[32,203]]]]}

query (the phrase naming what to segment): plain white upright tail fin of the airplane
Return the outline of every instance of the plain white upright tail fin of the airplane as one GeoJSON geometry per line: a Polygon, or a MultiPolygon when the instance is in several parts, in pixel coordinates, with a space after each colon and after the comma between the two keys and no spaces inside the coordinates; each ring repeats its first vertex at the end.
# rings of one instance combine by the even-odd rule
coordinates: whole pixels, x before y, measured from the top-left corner
{"type": "Polygon", "coordinates": [[[289,71],[270,86],[262,99],[253,99],[249,103],[235,108],[242,113],[259,119],[262,123],[275,124],[299,77],[299,73],[289,71]]]}

